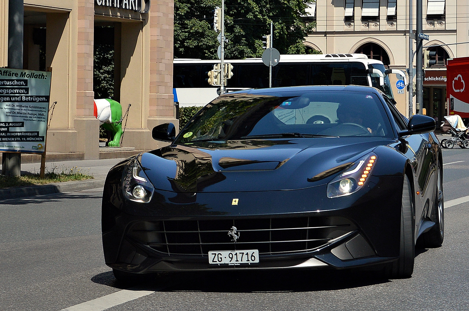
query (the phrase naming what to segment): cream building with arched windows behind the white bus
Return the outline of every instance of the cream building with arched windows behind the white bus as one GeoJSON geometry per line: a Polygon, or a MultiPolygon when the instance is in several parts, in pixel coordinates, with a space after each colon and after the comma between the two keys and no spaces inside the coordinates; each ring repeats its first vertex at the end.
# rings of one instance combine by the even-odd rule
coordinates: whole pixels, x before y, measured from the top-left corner
{"type": "MultiPolygon", "coordinates": [[[[416,0],[412,2],[415,32],[416,0]]],[[[422,2],[423,32],[430,36],[429,41],[424,41],[424,47],[450,44],[429,48],[437,52],[437,64],[426,70],[424,107],[421,108],[438,121],[446,111],[445,61],[447,58],[469,56],[469,44],[454,44],[469,42],[469,2],[422,2]]],[[[408,0],[316,0],[313,8],[317,25],[306,38],[306,45],[324,54],[363,52],[368,57],[381,59],[389,68],[404,71],[408,68],[408,0]]],[[[416,50],[415,41],[413,49],[416,50]]],[[[408,92],[397,94],[396,81],[395,76],[391,77],[397,107],[407,116],[408,92]]],[[[415,97],[413,106],[415,110],[415,97]]]]}

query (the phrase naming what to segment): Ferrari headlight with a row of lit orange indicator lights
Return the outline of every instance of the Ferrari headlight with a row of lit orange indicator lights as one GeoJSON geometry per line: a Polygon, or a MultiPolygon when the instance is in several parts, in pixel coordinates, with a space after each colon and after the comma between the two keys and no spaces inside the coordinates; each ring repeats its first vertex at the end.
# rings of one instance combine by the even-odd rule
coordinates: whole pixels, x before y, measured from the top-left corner
{"type": "Polygon", "coordinates": [[[351,195],[365,185],[378,156],[371,152],[349,166],[327,184],[327,197],[351,195]]]}

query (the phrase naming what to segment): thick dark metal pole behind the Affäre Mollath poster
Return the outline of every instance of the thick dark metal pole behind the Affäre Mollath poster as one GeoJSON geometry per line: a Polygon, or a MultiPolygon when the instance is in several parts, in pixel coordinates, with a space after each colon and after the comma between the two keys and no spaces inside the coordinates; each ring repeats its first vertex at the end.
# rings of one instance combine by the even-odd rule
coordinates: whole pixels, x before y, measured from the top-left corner
{"type": "MultiPolygon", "coordinates": [[[[23,0],[8,1],[8,68],[23,69],[23,0]]],[[[21,153],[2,152],[1,173],[21,175],[21,153]]]]}

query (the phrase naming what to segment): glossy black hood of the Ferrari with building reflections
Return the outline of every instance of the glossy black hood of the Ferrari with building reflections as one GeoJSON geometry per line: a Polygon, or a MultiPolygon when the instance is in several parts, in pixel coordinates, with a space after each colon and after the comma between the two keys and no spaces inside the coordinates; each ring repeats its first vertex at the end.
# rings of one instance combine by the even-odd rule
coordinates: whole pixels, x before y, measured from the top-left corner
{"type": "Polygon", "coordinates": [[[379,137],[197,142],[145,152],[139,161],[160,190],[293,190],[324,184],[378,145],[393,142],[379,137]]]}

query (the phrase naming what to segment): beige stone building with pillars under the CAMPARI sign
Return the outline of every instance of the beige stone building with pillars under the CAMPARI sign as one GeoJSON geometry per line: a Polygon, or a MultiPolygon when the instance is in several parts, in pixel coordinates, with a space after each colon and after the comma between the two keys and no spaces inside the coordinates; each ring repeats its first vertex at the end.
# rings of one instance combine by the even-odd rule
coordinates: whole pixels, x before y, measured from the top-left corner
{"type": "MultiPolygon", "coordinates": [[[[158,143],[151,129],[166,122],[177,125],[173,10],[172,0],[24,0],[23,69],[52,68],[50,101],[57,101],[47,152],[99,158],[100,123],[93,116],[97,27],[113,29],[113,99],[121,103],[123,115],[131,105],[122,124],[122,146],[154,149],[158,143]]],[[[0,67],[7,64],[8,0],[0,0],[0,67]]]]}

